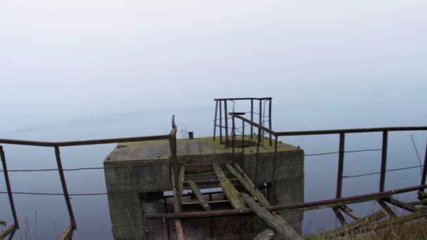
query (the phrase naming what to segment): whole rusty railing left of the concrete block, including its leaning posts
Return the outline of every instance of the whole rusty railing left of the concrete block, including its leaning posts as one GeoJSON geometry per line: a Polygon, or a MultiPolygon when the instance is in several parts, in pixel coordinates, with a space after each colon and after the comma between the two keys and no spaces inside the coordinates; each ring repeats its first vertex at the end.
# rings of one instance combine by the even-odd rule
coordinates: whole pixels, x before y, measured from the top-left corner
{"type": "MultiPolygon", "coordinates": [[[[173,169],[176,168],[175,166],[176,165],[176,132],[177,132],[177,126],[175,124],[175,116],[172,116],[172,130],[167,135],[152,135],[152,136],[143,136],[143,137],[134,137],[134,138],[107,138],[107,139],[79,140],[79,141],[69,141],[69,142],[41,142],[41,141],[28,141],[28,140],[0,139],[0,144],[53,147],[55,152],[56,164],[58,166],[57,170],[60,176],[61,186],[63,188],[63,196],[65,197],[65,203],[67,204],[67,211],[70,217],[70,225],[67,227],[64,234],[60,236],[60,239],[72,239],[73,232],[77,230],[77,223],[74,218],[72,204],[70,201],[70,196],[72,194],[69,194],[67,189],[67,182],[65,180],[64,168],[63,168],[62,160],[60,157],[60,147],[100,145],[100,144],[111,144],[111,143],[120,143],[120,142],[143,142],[143,141],[150,141],[150,140],[169,140],[169,145],[171,149],[171,160],[169,161],[169,169],[170,171],[173,171],[173,169]]],[[[1,145],[0,145],[0,159],[3,165],[6,189],[9,197],[9,203],[11,205],[11,212],[13,215],[13,225],[10,225],[3,232],[0,232],[0,239],[4,239],[6,236],[10,236],[11,238],[13,234],[15,234],[15,231],[19,229],[19,222],[18,222],[18,216],[17,216],[16,210],[15,210],[15,203],[13,201],[11,181],[8,177],[6,155],[4,152],[4,147],[1,145]]]]}

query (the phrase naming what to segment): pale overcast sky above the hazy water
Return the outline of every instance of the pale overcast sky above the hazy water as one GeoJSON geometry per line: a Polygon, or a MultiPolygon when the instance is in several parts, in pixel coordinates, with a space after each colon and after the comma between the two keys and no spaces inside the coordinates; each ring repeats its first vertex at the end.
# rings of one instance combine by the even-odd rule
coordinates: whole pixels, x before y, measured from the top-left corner
{"type": "Polygon", "coordinates": [[[425,109],[426,43],[425,0],[0,1],[0,114],[242,96],[425,109]]]}

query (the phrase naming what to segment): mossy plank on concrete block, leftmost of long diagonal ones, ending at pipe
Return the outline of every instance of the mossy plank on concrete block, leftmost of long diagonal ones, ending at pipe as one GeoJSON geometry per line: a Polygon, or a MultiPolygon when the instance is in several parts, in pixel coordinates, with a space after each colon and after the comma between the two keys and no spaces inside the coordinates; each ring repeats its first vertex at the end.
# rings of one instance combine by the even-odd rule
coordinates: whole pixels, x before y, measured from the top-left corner
{"type": "Polygon", "coordinates": [[[228,180],[228,178],[225,176],[221,167],[218,164],[213,164],[213,171],[215,171],[216,173],[216,176],[219,180],[221,187],[223,188],[225,196],[227,196],[228,200],[230,200],[231,206],[236,209],[246,208],[239,192],[232,185],[230,180],[228,180]]]}

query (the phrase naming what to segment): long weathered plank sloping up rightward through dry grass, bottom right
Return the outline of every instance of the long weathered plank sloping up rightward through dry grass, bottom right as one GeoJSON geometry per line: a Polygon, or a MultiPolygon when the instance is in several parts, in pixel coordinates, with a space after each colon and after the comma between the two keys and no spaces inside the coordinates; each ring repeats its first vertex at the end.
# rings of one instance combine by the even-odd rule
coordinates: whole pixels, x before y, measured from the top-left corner
{"type": "Polygon", "coordinates": [[[360,229],[361,227],[370,226],[372,222],[381,220],[381,218],[384,218],[385,216],[386,216],[386,213],[384,213],[383,211],[378,211],[371,215],[367,215],[364,218],[360,218],[359,220],[355,220],[354,222],[350,222],[347,225],[342,225],[341,227],[337,227],[336,229],[333,229],[329,232],[304,236],[304,239],[328,239],[327,237],[324,238],[322,236],[329,236],[329,237],[341,236],[341,235],[353,232],[356,229],[360,229]]]}

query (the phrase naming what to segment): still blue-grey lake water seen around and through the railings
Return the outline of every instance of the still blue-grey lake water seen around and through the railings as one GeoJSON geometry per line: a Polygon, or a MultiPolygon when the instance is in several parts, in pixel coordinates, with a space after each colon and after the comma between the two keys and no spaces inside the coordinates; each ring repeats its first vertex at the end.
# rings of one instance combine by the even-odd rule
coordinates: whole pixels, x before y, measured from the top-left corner
{"type": "MultiPolygon", "coordinates": [[[[194,107],[194,106],[192,106],[194,107]]],[[[244,105],[236,110],[247,111],[244,105]]],[[[105,114],[85,118],[61,120],[53,114],[49,121],[14,126],[13,122],[1,128],[0,138],[22,140],[86,140],[95,138],[121,138],[139,135],[166,134],[170,131],[171,114],[176,114],[178,138],[185,130],[195,131],[195,137],[212,135],[213,104],[197,108],[162,109],[161,111],[105,114]]],[[[380,126],[423,126],[427,112],[422,106],[407,108],[403,102],[293,102],[273,100],[272,126],[276,131],[302,131],[333,128],[361,128],[380,126]]],[[[22,122],[22,119],[20,120],[22,122]]],[[[419,160],[412,145],[411,135],[423,161],[426,152],[426,132],[389,133],[388,169],[418,166],[419,160]]],[[[306,154],[338,151],[338,135],[280,138],[283,142],[300,146],[306,154]]],[[[64,168],[102,167],[103,160],[115,145],[62,147],[64,168]]],[[[8,168],[56,168],[54,149],[4,145],[8,168]]],[[[346,150],[381,149],[381,133],[346,135],[346,150]]],[[[304,200],[315,201],[334,198],[338,155],[305,157],[304,200]]],[[[345,156],[344,175],[380,170],[381,151],[355,152],[345,156]]],[[[70,193],[106,192],[103,170],[68,171],[65,173],[70,193]]],[[[60,193],[57,171],[11,172],[14,192],[60,193]]],[[[420,168],[388,172],[386,189],[418,185],[420,168]]],[[[377,192],[379,175],[343,180],[343,196],[377,192]]],[[[6,192],[4,178],[0,178],[0,192],[6,192]]],[[[416,194],[402,194],[400,199],[415,199],[416,194]]],[[[15,205],[20,220],[16,239],[57,239],[69,225],[63,196],[37,196],[15,194],[15,205]]],[[[77,219],[74,239],[112,239],[107,196],[73,196],[72,206],[77,219]]],[[[358,215],[372,213],[378,208],[373,203],[350,205],[358,215]]],[[[0,194],[0,220],[13,222],[6,194],[0,194]]],[[[307,211],[303,215],[303,234],[330,229],[336,225],[331,209],[307,211]]]]}

